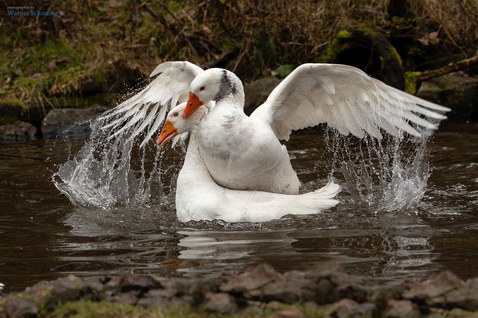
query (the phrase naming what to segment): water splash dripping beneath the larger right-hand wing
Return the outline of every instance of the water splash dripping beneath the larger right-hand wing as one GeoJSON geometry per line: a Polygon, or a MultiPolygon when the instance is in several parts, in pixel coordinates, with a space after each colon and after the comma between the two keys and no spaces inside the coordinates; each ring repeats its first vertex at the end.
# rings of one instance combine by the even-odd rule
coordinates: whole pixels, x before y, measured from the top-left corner
{"type": "Polygon", "coordinates": [[[377,140],[359,140],[337,132],[327,134],[333,155],[329,179],[334,172],[345,178],[348,197],[342,203],[364,206],[374,213],[414,211],[426,190],[430,132],[422,137],[401,134],[377,140]]]}

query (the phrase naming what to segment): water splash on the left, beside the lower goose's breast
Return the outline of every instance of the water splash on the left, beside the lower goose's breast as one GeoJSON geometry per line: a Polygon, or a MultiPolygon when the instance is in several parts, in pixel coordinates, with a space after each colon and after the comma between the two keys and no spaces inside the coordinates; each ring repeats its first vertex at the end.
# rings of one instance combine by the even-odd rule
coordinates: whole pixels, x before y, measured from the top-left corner
{"type": "Polygon", "coordinates": [[[162,167],[165,149],[153,142],[139,147],[141,135],[131,138],[136,126],[109,139],[112,132],[100,127],[111,117],[90,123],[90,139],[71,160],[58,166],[54,185],[75,205],[109,211],[120,205],[145,205],[151,202],[152,193],[159,205],[174,205],[174,196],[165,191],[168,186],[162,181],[172,179],[174,187],[174,175],[162,167]]]}

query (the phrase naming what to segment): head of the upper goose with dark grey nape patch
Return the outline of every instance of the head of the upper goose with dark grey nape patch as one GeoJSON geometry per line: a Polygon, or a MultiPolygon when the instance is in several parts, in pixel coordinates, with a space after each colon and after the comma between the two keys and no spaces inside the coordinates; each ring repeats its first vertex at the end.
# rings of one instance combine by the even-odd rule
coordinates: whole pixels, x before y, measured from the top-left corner
{"type": "Polygon", "coordinates": [[[201,72],[191,82],[183,117],[188,118],[203,104],[210,101],[219,102],[228,96],[244,105],[244,87],[236,74],[224,69],[209,69],[201,72]]]}

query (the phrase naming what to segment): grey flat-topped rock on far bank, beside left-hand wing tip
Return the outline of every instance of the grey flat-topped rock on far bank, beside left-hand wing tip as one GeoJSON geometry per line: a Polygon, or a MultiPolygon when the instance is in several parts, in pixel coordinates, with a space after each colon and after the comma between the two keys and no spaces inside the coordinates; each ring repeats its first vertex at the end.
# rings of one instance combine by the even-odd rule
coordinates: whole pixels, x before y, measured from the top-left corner
{"type": "Polygon", "coordinates": [[[45,139],[87,139],[90,120],[108,110],[105,106],[95,105],[87,109],[52,109],[42,121],[42,133],[45,139]]]}

